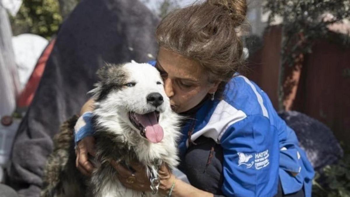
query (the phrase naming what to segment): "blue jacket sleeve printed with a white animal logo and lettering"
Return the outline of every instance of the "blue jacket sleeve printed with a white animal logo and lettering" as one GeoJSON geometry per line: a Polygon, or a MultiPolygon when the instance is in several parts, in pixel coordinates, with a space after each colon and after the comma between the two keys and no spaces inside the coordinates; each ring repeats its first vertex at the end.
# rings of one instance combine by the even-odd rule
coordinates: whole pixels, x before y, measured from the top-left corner
{"type": "Polygon", "coordinates": [[[274,196],[277,193],[279,146],[268,118],[247,116],[221,137],[225,196],[274,196]]]}

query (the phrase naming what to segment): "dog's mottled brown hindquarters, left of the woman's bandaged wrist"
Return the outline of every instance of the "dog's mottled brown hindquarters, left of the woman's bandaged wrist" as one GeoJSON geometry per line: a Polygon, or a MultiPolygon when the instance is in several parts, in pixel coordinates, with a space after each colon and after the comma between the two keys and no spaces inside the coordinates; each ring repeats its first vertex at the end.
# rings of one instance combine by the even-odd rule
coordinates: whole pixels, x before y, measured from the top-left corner
{"type": "Polygon", "coordinates": [[[74,116],[64,122],[54,137],[55,148],[44,169],[41,197],[76,197],[84,190],[82,175],[75,167],[73,127],[76,121],[74,116]]]}

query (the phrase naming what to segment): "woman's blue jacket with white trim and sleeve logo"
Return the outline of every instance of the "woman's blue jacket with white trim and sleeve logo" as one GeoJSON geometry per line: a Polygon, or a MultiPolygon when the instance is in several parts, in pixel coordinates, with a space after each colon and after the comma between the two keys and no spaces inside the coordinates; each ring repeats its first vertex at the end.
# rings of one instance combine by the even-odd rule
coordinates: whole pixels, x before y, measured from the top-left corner
{"type": "MultiPolygon", "coordinates": [[[[205,101],[196,112],[191,140],[203,135],[221,144],[225,196],[274,196],[280,179],[283,193],[304,188],[310,197],[314,170],[294,131],[278,116],[266,93],[237,75],[227,84],[223,97],[205,101]]],[[[191,122],[182,128],[180,157],[188,147],[189,127],[193,127],[191,122]]]]}

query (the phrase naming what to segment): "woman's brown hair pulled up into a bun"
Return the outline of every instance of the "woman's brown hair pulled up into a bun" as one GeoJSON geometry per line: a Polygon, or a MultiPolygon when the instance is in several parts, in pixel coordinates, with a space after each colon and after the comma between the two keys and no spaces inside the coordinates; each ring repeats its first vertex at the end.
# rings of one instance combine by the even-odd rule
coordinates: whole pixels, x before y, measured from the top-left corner
{"type": "Polygon", "coordinates": [[[198,62],[209,82],[225,84],[243,67],[243,43],[237,29],[246,18],[246,0],[207,0],[170,12],[156,30],[160,47],[198,62]]]}

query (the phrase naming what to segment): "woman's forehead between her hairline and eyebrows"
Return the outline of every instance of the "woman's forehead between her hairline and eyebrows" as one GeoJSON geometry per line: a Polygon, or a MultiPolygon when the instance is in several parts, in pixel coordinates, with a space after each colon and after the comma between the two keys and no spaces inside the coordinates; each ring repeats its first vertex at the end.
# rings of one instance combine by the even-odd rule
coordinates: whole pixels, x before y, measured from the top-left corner
{"type": "Polygon", "coordinates": [[[204,77],[204,69],[196,61],[162,47],[159,49],[157,61],[159,66],[172,77],[193,81],[202,81],[204,77]]]}

